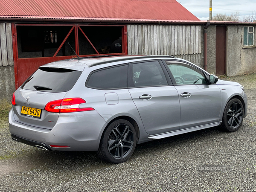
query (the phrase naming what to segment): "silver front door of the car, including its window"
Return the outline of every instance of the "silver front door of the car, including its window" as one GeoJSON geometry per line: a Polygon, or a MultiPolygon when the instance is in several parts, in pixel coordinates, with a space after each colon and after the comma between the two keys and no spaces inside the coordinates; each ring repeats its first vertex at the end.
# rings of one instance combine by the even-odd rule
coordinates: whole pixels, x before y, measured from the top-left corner
{"type": "Polygon", "coordinates": [[[176,61],[166,61],[175,79],[180,99],[180,129],[218,122],[221,111],[221,92],[209,84],[197,68],[176,61]]]}

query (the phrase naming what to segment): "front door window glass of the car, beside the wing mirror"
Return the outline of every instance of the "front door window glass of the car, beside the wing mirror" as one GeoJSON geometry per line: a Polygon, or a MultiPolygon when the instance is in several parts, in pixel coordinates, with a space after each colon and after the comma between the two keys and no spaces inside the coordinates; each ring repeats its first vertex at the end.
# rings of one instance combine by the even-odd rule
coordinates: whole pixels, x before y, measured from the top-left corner
{"type": "Polygon", "coordinates": [[[207,84],[204,73],[189,64],[166,61],[176,84],[207,84]]]}

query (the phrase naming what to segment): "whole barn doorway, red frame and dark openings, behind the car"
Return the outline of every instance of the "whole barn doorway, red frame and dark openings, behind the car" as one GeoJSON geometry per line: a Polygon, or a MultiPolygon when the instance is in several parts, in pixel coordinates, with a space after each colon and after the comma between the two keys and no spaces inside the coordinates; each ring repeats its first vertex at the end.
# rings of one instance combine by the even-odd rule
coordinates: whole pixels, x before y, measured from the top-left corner
{"type": "Polygon", "coordinates": [[[16,89],[38,67],[53,61],[76,54],[127,55],[126,25],[12,23],[12,34],[16,89]]]}

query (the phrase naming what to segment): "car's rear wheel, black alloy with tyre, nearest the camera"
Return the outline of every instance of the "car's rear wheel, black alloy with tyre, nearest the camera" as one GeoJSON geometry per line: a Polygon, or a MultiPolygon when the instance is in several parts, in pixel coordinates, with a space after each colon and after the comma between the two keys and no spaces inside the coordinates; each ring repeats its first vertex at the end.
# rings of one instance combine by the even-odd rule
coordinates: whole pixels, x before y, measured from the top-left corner
{"type": "Polygon", "coordinates": [[[105,129],[97,154],[109,163],[123,163],[133,154],[136,138],[134,126],[125,119],[118,119],[105,129]]]}

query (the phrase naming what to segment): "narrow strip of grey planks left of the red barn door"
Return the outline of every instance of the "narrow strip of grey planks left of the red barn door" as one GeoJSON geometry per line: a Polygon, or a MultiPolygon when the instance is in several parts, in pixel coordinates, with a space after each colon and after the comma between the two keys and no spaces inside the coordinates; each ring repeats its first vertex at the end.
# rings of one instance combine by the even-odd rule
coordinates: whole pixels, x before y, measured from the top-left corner
{"type": "Polygon", "coordinates": [[[0,66],[13,64],[11,23],[0,23],[0,66]]]}

